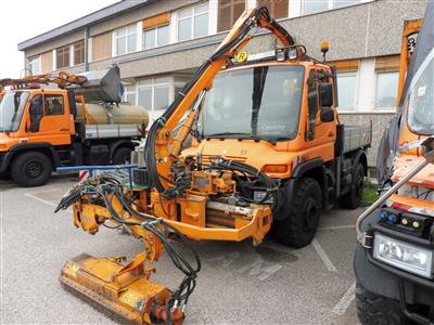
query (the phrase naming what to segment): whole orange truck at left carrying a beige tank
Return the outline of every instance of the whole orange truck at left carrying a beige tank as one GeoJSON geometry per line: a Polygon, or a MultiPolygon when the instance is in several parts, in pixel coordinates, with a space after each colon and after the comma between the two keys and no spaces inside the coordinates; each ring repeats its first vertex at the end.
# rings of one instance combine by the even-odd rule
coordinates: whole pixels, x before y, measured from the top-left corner
{"type": "Polygon", "coordinates": [[[61,72],[0,80],[2,177],[39,186],[61,166],[129,159],[133,141],[144,134],[148,113],[119,104],[118,67],[88,76],[61,72]]]}

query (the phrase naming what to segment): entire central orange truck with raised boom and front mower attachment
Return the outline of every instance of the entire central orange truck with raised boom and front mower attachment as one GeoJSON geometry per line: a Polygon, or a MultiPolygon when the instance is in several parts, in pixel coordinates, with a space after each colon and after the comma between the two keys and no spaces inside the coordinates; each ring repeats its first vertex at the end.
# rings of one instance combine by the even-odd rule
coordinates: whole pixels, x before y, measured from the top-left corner
{"type": "Polygon", "coordinates": [[[128,264],[80,255],[61,282],[130,321],[170,323],[183,317],[200,263],[183,268],[168,234],[259,245],[273,225],[285,245],[309,244],[323,209],[358,206],[367,172],[370,127],[341,125],[336,99],[331,66],[308,56],[265,6],[245,11],[152,125],[133,184],[92,177],[59,204],[74,205],[74,224],[90,234],[105,222],[127,226],[144,251],[128,264]],[[282,48],[245,60],[241,49],[259,28],[282,48]],[[162,244],[184,274],[174,291],[149,283],[162,244]]]}

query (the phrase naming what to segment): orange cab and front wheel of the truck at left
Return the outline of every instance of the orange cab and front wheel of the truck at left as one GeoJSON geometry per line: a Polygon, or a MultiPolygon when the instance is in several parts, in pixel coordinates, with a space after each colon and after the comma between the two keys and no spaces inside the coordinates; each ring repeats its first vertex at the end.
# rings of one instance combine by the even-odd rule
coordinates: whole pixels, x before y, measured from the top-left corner
{"type": "Polygon", "coordinates": [[[0,172],[26,185],[48,180],[60,164],[54,147],[71,145],[75,132],[69,107],[65,90],[5,91],[0,103],[0,172]]]}

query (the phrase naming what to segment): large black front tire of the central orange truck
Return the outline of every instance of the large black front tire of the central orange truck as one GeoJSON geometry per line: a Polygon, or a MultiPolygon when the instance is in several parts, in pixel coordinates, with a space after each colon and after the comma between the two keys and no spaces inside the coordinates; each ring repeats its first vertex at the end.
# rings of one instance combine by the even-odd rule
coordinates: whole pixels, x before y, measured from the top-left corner
{"type": "Polygon", "coordinates": [[[286,193],[282,221],[276,221],[273,235],[286,246],[305,247],[314,239],[322,210],[321,187],[310,178],[302,178],[296,185],[293,198],[286,193]]]}

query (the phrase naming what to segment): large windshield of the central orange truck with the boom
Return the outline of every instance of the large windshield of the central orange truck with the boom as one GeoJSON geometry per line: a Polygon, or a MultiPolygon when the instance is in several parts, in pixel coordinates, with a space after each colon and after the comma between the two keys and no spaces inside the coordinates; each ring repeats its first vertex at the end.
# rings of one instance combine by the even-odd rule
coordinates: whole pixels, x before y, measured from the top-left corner
{"type": "Polygon", "coordinates": [[[205,96],[197,131],[203,138],[293,139],[304,68],[259,66],[222,73],[205,96]]]}

